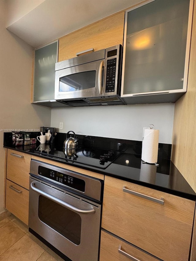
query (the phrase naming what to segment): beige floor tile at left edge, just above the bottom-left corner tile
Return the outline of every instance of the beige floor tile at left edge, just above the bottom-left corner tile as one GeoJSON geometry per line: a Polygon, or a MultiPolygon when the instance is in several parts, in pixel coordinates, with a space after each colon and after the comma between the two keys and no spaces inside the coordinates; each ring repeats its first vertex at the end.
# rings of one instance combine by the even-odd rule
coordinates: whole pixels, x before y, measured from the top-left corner
{"type": "Polygon", "coordinates": [[[0,255],[24,235],[25,233],[10,221],[0,227],[0,255]]]}

